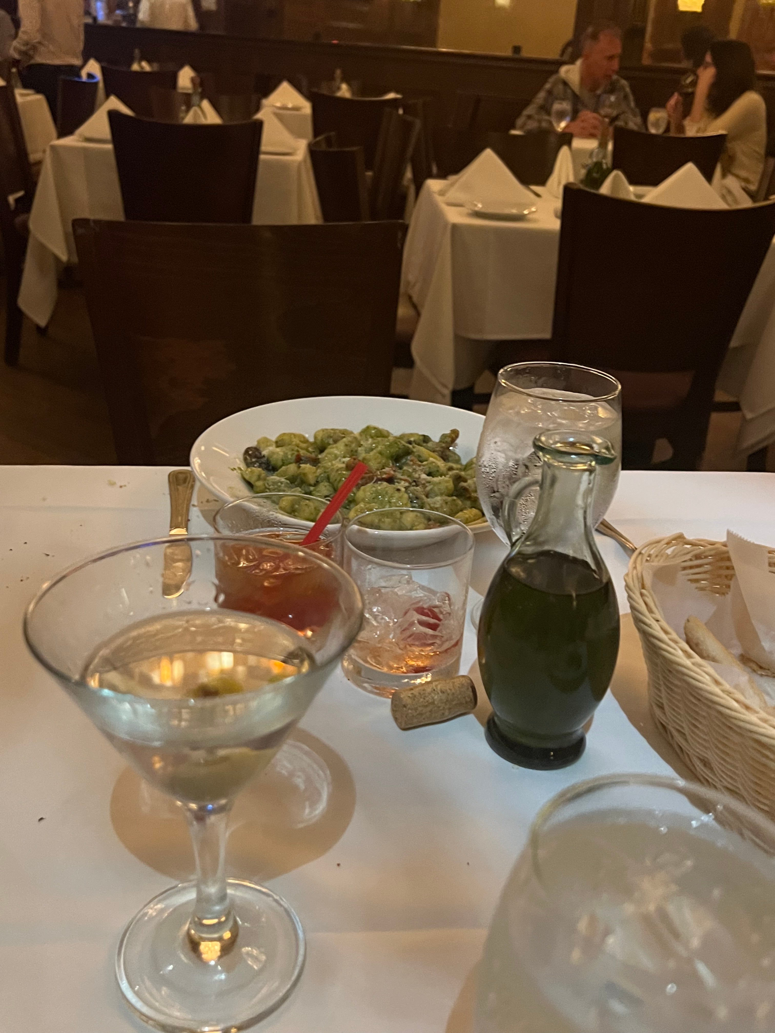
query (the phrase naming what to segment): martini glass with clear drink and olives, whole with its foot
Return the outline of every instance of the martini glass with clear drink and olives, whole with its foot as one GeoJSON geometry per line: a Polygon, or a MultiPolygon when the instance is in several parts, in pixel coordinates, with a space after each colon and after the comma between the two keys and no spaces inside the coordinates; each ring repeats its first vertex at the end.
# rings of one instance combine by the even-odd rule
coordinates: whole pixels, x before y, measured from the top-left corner
{"type": "Polygon", "coordinates": [[[196,879],[150,901],[116,960],[125,999],[156,1029],[243,1029],[296,985],[301,924],[269,889],[226,879],[226,825],[361,620],[358,589],[336,564],[260,537],[124,545],[30,603],[35,658],[188,819],[196,879]],[[177,594],[171,564],[183,574],[177,594]]]}

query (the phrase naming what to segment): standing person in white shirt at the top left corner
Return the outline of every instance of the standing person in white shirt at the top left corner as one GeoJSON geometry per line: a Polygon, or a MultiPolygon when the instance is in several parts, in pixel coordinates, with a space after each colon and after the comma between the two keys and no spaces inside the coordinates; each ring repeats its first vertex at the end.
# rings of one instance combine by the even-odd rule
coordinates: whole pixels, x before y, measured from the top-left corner
{"type": "Polygon", "coordinates": [[[10,49],[22,83],[42,93],[57,117],[63,75],[78,75],[84,61],[84,0],[19,0],[22,25],[10,49]]]}

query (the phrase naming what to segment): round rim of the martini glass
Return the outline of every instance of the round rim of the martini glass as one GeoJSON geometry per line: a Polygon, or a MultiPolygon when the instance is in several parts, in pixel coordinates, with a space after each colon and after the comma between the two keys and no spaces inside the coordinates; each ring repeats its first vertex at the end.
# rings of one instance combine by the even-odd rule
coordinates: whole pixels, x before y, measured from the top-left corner
{"type": "MultiPolygon", "coordinates": [[[[48,670],[49,674],[52,675],[54,678],[56,678],[58,681],[65,682],[67,685],[72,685],[72,686],[86,686],[88,687],[90,692],[93,692],[95,693],[95,695],[99,695],[104,698],[116,698],[116,699],[129,698],[135,702],[138,701],[142,703],[147,703],[151,706],[154,710],[164,710],[164,709],[175,709],[175,708],[179,709],[183,703],[186,706],[186,709],[204,710],[204,711],[207,711],[208,709],[215,710],[218,707],[222,707],[224,698],[228,700],[229,697],[203,696],[202,698],[185,697],[181,699],[162,699],[155,697],[150,698],[146,696],[135,696],[131,693],[116,692],[113,689],[106,689],[106,688],[95,689],[91,685],[87,686],[87,683],[83,679],[73,678],[66,671],[60,670],[60,668],[57,667],[56,664],[51,663],[48,660],[48,658],[35,645],[32,632],[30,630],[30,622],[32,620],[32,617],[35,613],[37,605],[43,600],[43,598],[51,591],[53,591],[55,588],[57,588],[57,586],[61,585],[63,582],[67,581],[68,577],[71,577],[74,574],[80,573],[82,570],[86,570],[88,567],[96,565],[101,560],[109,560],[112,557],[120,556],[122,553],[137,552],[141,549],[151,549],[154,545],[164,545],[166,547],[167,545],[183,545],[183,544],[192,545],[195,542],[215,543],[223,541],[234,541],[235,543],[240,545],[244,545],[246,541],[250,542],[265,541],[267,545],[270,545],[273,549],[279,547],[284,552],[292,553],[297,555],[300,559],[303,559],[305,561],[308,561],[310,557],[313,557],[315,563],[319,563],[321,566],[328,567],[330,571],[333,572],[340,582],[342,582],[345,585],[349,582],[350,589],[354,593],[354,598],[360,603],[360,618],[357,621],[360,630],[361,620],[363,619],[363,600],[361,598],[361,590],[359,589],[358,585],[355,585],[354,581],[352,581],[350,575],[345,570],[343,570],[338,563],[335,563],[333,560],[329,560],[327,557],[320,556],[317,553],[311,553],[308,549],[296,547],[291,542],[286,542],[275,538],[261,538],[258,535],[247,536],[239,534],[178,534],[178,535],[171,535],[165,538],[149,538],[149,539],[142,539],[140,541],[127,542],[126,544],[123,545],[114,545],[112,549],[106,549],[101,553],[88,556],[86,557],[86,559],[81,560],[79,563],[73,563],[71,566],[66,567],[64,570],[61,570],[59,573],[55,574],[52,578],[50,578],[48,582],[45,582],[43,585],[40,586],[40,588],[37,590],[33,598],[30,600],[27,607],[25,608],[24,620],[23,620],[23,632],[27,648],[29,649],[30,653],[33,655],[35,660],[37,660],[37,662],[40,664],[40,666],[43,667],[45,670],[48,670]]],[[[242,613],[242,611],[229,611],[229,613],[242,613]]],[[[359,632],[355,631],[354,634],[350,636],[348,632],[347,635],[345,635],[345,637],[349,638],[350,645],[352,644],[352,641],[354,641],[355,637],[358,636],[358,633],[359,632]]],[[[316,669],[318,670],[323,669],[331,662],[333,661],[328,660],[326,661],[326,663],[320,664],[316,669]]],[[[338,662],[338,660],[336,662],[338,662]]],[[[291,678],[284,679],[284,681],[292,682],[297,678],[301,679],[306,677],[307,675],[293,675],[291,678]]],[[[241,693],[241,695],[244,698],[252,697],[256,693],[262,692],[265,688],[266,686],[262,686],[261,688],[241,693]]],[[[231,701],[234,702],[234,700],[231,701]]]]}

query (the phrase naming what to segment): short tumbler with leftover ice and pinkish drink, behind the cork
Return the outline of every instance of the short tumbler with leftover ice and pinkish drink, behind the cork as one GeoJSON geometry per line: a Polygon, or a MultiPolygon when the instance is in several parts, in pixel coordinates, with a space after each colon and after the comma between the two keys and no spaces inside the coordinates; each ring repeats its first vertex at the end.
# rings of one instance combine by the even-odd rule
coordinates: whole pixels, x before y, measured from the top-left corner
{"type": "Polygon", "coordinates": [[[350,521],[344,568],[361,589],[364,624],[342,661],[347,678],[391,696],[457,675],[472,559],[473,535],[452,516],[382,509],[350,521]],[[412,530],[417,521],[429,527],[412,530]]]}

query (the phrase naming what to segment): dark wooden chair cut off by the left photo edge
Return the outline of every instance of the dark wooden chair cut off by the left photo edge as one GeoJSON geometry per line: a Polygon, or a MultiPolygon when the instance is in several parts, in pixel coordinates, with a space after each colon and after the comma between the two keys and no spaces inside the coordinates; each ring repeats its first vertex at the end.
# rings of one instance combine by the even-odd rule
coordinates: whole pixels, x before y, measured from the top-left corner
{"type": "Polygon", "coordinates": [[[5,260],[5,349],[7,366],[19,362],[23,314],[17,303],[28,240],[28,213],[35,181],[27,156],[17,98],[9,85],[0,86],[0,238],[5,260]],[[11,205],[9,197],[19,195],[11,205]]]}

